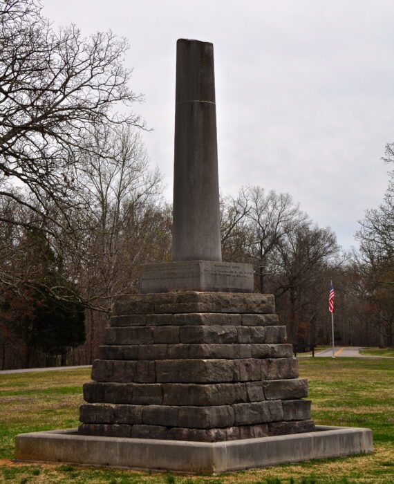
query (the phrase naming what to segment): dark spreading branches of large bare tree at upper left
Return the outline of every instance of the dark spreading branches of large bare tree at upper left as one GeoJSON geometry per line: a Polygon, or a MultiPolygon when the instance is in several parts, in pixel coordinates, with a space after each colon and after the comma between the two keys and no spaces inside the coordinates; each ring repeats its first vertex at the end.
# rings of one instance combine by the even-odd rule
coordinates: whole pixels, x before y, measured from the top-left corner
{"type": "Polygon", "coordinates": [[[112,32],[84,38],[75,26],[54,30],[37,1],[3,0],[0,46],[0,196],[45,218],[48,204],[64,210],[77,202],[82,160],[74,153],[95,151],[86,140],[98,124],[142,126],[138,115],[115,110],[141,99],[122,64],[127,42],[112,32]],[[12,190],[16,181],[25,196],[12,190]]]}

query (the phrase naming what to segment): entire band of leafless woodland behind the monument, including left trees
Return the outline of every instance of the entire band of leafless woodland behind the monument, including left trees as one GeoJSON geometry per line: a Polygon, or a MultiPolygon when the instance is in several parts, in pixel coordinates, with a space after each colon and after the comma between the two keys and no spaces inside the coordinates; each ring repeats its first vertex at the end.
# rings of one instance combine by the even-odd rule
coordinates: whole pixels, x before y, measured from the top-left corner
{"type": "MultiPolygon", "coordinates": [[[[88,364],[115,298],[138,292],[140,266],[171,258],[126,41],[55,31],[35,0],[5,0],[0,45],[0,369],[88,364]]],[[[253,264],[290,342],[330,344],[332,279],[337,343],[392,346],[393,204],[391,172],[359,250],[344,254],[290,195],[245,187],[221,203],[223,260],[253,264]]]]}

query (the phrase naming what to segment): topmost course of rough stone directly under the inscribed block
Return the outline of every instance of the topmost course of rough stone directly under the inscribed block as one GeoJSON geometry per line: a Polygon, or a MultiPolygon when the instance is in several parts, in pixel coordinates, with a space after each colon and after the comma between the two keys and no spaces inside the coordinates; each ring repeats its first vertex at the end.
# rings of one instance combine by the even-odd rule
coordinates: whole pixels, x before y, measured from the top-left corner
{"type": "Polygon", "coordinates": [[[175,313],[274,314],[274,296],[241,292],[167,292],[120,296],[113,315],[175,313]]]}

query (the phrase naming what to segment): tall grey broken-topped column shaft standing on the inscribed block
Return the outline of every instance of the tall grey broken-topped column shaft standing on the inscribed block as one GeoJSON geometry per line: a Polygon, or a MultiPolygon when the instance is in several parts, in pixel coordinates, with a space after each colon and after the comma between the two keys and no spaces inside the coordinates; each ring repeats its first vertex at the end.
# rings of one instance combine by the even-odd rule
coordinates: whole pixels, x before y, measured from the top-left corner
{"type": "Polygon", "coordinates": [[[214,46],[179,39],[173,176],[173,261],[221,261],[214,46]]]}

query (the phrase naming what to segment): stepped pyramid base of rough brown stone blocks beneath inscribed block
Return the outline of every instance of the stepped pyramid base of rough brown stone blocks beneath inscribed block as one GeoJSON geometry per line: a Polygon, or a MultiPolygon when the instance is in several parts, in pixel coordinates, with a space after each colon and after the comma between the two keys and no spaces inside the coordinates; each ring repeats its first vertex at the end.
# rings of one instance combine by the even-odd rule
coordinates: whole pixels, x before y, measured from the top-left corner
{"type": "Polygon", "coordinates": [[[225,442],[311,432],[310,400],[271,295],[120,297],[79,434],[225,442]]]}

